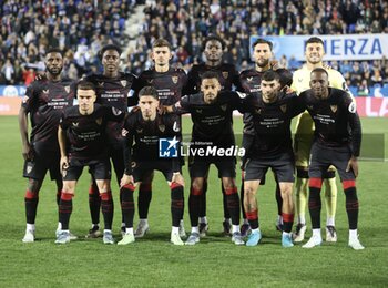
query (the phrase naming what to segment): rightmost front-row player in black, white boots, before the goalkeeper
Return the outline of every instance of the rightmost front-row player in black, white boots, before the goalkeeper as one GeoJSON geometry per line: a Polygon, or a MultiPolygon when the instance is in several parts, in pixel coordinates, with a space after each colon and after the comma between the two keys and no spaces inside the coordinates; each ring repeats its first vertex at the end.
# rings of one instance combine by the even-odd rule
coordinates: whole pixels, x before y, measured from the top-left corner
{"type": "Polygon", "coordinates": [[[361,145],[361,123],[356,111],[355,100],[344,90],[329,86],[329,73],[323,68],[312,71],[310,88],[299,97],[304,101],[315,123],[312,146],[308,208],[312,217],[313,236],[303,246],[313,248],[321,244],[320,234],[320,188],[324,175],[334,165],[346,197],[346,212],[349,223],[349,246],[364,249],[358,239],[358,198],[356,177],[361,145]]]}

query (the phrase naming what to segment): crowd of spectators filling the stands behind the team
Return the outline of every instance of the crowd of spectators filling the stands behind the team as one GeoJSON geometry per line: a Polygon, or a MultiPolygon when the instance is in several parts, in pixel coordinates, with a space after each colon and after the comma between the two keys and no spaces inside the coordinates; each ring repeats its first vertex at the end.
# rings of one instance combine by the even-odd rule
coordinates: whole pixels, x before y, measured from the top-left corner
{"type": "MultiPolygon", "coordinates": [[[[144,1],[27,0],[0,8],[0,84],[29,84],[43,69],[47,47],[65,51],[64,73],[76,79],[100,71],[103,44],[125,44],[124,23],[144,1]]],[[[150,68],[149,51],[157,38],[175,50],[173,63],[188,70],[202,61],[202,40],[218,34],[227,44],[225,61],[238,70],[249,66],[249,35],[388,33],[388,3],[379,0],[153,0],[145,1],[136,47],[123,61],[124,71],[150,68]]],[[[131,35],[133,37],[133,35],[131,35]]],[[[302,63],[278,59],[290,70],[302,63]]],[[[388,61],[334,61],[348,84],[367,95],[368,88],[388,84],[388,61]]]]}

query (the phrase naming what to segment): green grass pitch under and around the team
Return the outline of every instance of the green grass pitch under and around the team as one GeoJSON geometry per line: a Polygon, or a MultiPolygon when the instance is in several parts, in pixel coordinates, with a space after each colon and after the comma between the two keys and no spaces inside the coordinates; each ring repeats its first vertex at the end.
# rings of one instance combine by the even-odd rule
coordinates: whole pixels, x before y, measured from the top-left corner
{"type": "MultiPolygon", "coordinates": [[[[388,157],[384,133],[388,119],[363,119],[364,154],[388,157]],[[382,136],[381,136],[382,135],[382,136]]],[[[184,119],[185,133],[191,121],[184,119]]],[[[241,119],[235,120],[241,131],[241,119]]],[[[40,193],[37,241],[23,244],[24,192],[22,157],[17,117],[0,117],[0,287],[384,287],[388,285],[387,178],[388,162],[360,161],[358,196],[359,234],[365,250],[347,247],[348,230],[343,193],[338,196],[338,243],[305,250],[300,245],[284,249],[275,230],[274,182],[261,186],[258,205],[264,238],[257,247],[237,247],[222,237],[222,195],[212,168],[207,193],[210,236],[200,244],[175,247],[169,243],[171,229],[170,191],[160,173],[153,184],[150,208],[151,232],[133,245],[104,246],[101,239],[86,240],[90,228],[89,175],[81,177],[70,222],[80,237],[69,245],[54,245],[57,227],[55,185],[45,179],[40,193]]],[[[184,176],[188,183],[187,168],[184,176]]],[[[239,174],[239,173],[237,173],[239,174]]],[[[237,178],[239,185],[239,175],[237,178]]],[[[341,186],[338,185],[339,192],[341,186]]],[[[120,239],[118,186],[114,234],[120,239]]],[[[137,197],[136,197],[137,198],[137,197]]],[[[188,188],[185,189],[185,227],[190,232],[188,188]]],[[[307,215],[309,218],[309,216],[307,215]]],[[[325,208],[321,214],[326,220],[325,208]]],[[[135,224],[137,217],[135,218],[135,224]]],[[[308,219],[309,225],[309,219],[308,219]]],[[[324,223],[323,223],[324,226],[324,223]]],[[[308,227],[310,228],[310,226],[308,227]]],[[[307,236],[310,236],[308,229],[307,236]]]]}

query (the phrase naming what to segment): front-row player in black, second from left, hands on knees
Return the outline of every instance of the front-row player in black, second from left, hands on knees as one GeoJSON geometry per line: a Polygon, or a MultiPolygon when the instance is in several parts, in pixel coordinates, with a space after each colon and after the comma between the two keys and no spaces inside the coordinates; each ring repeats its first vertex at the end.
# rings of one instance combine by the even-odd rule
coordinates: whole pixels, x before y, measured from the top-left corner
{"type": "MultiPolygon", "coordinates": [[[[139,183],[154,171],[161,171],[171,188],[172,230],[171,243],[184,245],[180,237],[180,222],[183,216],[184,181],[180,173],[178,157],[164,158],[159,155],[161,138],[167,138],[172,146],[177,144],[180,125],[171,115],[157,113],[159,92],[153,86],[144,86],[139,92],[139,107],[126,119],[125,173],[121,181],[122,210],[124,213],[125,234],[119,245],[135,240],[133,234],[134,202],[133,192],[139,183]]],[[[176,155],[178,156],[178,155],[176,155]]]]}

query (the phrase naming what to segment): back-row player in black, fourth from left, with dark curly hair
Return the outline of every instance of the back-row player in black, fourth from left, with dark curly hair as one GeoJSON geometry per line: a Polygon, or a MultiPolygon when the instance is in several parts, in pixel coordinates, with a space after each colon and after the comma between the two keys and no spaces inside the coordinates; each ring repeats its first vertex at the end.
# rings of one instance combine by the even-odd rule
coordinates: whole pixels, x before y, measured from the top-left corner
{"type": "MultiPolygon", "coordinates": [[[[233,85],[238,84],[238,72],[233,64],[222,62],[223,53],[225,50],[225,42],[216,37],[210,35],[203,42],[203,52],[206,58],[206,62],[197,65],[193,65],[187,74],[187,85],[184,89],[186,95],[195,94],[200,92],[202,75],[208,71],[217,74],[217,79],[221,83],[221,89],[225,91],[232,91],[233,85]]],[[[205,236],[208,230],[208,222],[206,218],[206,191],[207,191],[207,177],[204,183],[204,193],[202,194],[202,208],[200,213],[200,234],[205,236]]],[[[223,207],[224,207],[224,235],[231,235],[231,215],[228,214],[225,191],[222,185],[223,192],[223,207]]]]}

